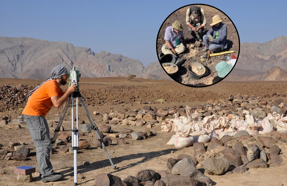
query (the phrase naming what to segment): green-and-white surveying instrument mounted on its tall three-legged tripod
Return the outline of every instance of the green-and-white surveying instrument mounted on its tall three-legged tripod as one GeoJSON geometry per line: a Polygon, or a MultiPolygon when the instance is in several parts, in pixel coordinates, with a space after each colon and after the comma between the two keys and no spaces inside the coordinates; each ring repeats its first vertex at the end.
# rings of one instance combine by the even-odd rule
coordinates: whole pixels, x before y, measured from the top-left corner
{"type": "MultiPolygon", "coordinates": [[[[69,86],[71,85],[76,85],[79,82],[79,78],[80,78],[81,74],[79,73],[79,71],[75,70],[75,66],[73,66],[73,69],[70,70],[70,79],[71,82],[69,83],[69,86]]],[[[55,129],[55,134],[54,137],[51,141],[51,147],[50,147],[50,152],[52,150],[53,144],[56,142],[58,133],[60,131],[60,128],[62,126],[63,120],[65,118],[66,112],[68,110],[68,107],[70,105],[70,103],[72,104],[72,150],[74,151],[74,185],[77,185],[77,150],[79,150],[79,129],[78,129],[78,99],[80,100],[82,106],[84,107],[84,111],[88,116],[88,119],[90,121],[90,124],[92,125],[93,130],[95,131],[95,134],[98,138],[98,140],[100,141],[100,148],[104,148],[106,155],[108,156],[108,159],[110,160],[110,164],[112,165],[113,169],[115,168],[115,165],[113,164],[113,161],[110,158],[110,155],[108,154],[108,151],[106,150],[106,147],[104,145],[103,142],[103,138],[104,136],[102,134],[100,134],[100,131],[98,130],[89,110],[88,107],[86,105],[86,103],[84,102],[84,99],[79,91],[79,85],[77,85],[77,89],[75,92],[71,93],[66,101],[66,104],[64,106],[62,115],[60,117],[59,123],[57,125],[57,128],[55,129]],[[73,106],[73,98],[76,98],[76,126],[74,127],[74,106],[73,106]]]]}

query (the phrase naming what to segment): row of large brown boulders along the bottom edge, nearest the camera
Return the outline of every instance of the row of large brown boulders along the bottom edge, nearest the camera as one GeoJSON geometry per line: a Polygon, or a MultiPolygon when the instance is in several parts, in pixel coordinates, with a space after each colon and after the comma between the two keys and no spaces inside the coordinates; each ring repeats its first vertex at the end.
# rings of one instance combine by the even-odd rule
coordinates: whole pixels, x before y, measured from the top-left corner
{"type": "Polygon", "coordinates": [[[98,174],[95,177],[95,185],[105,183],[110,186],[210,186],[212,180],[199,172],[195,164],[185,158],[174,165],[174,173],[167,171],[154,171],[145,169],[137,172],[135,176],[128,176],[121,180],[120,177],[111,174],[98,174]],[[184,167],[181,167],[183,165],[184,167]]]}

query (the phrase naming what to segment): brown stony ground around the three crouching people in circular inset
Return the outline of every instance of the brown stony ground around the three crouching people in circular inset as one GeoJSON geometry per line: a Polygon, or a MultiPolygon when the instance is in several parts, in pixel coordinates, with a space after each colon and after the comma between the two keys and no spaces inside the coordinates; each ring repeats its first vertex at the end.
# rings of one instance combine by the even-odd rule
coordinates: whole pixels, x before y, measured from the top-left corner
{"type": "MultiPolygon", "coordinates": [[[[204,12],[205,12],[205,17],[207,19],[207,23],[205,25],[206,28],[203,34],[206,34],[206,32],[210,29],[210,24],[212,23],[212,17],[214,15],[219,15],[220,18],[223,20],[223,23],[226,24],[227,26],[227,40],[228,40],[227,50],[233,50],[235,52],[234,55],[238,56],[239,47],[240,47],[239,37],[231,20],[224,13],[222,13],[221,11],[218,11],[217,9],[213,7],[209,7],[205,5],[199,5],[199,6],[203,7],[204,12]]],[[[187,44],[193,44],[193,45],[195,44],[195,40],[188,32],[188,26],[185,24],[185,15],[186,15],[187,8],[189,8],[189,6],[183,7],[177,10],[176,12],[172,13],[172,15],[170,15],[168,19],[166,19],[166,21],[162,25],[161,29],[159,30],[159,34],[157,38],[158,54],[160,54],[161,47],[165,43],[164,33],[165,33],[166,27],[171,26],[171,24],[176,20],[181,21],[181,24],[183,25],[184,38],[187,44]]],[[[205,59],[205,61],[201,62],[200,57],[205,56],[207,54],[207,52],[203,52],[203,46],[204,46],[204,42],[201,42],[200,47],[195,46],[195,48],[188,48],[183,54],[179,54],[179,57],[185,59],[185,62],[183,63],[183,65],[179,67],[179,71],[170,77],[177,82],[180,82],[180,83],[183,83],[189,86],[195,86],[195,87],[202,87],[202,86],[211,85],[213,83],[218,82],[221,78],[218,77],[218,74],[215,70],[215,65],[218,62],[224,60],[224,55],[213,56],[210,59],[205,59]],[[208,74],[198,80],[192,79],[187,70],[187,66],[191,62],[198,62],[198,63],[203,64],[203,66],[206,67],[208,74]]],[[[225,56],[230,57],[231,55],[232,54],[226,54],[225,56]]]]}

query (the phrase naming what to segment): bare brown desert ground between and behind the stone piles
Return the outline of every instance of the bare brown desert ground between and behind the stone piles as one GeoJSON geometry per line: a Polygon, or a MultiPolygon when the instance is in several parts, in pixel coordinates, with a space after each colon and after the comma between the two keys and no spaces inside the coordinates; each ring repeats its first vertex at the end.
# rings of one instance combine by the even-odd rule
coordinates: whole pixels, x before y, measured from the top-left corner
{"type": "MultiPolygon", "coordinates": [[[[2,95],[7,95],[5,90],[3,91],[4,85],[9,85],[12,87],[27,87],[28,90],[36,84],[41,83],[42,80],[31,80],[31,79],[5,79],[1,78],[0,93],[2,95]],[[20,85],[22,84],[22,85],[20,85]]],[[[6,86],[7,87],[7,86],[6,86]]],[[[214,102],[220,98],[226,99],[233,95],[234,97],[238,94],[240,95],[249,95],[250,98],[253,95],[258,97],[253,97],[254,100],[266,101],[267,108],[268,104],[275,104],[272,100],[282,99],[282,104],[286,104],[286,82],[285,81],[249,81],[249,82],[219,82],[216,85],[204,88],[191,88],[180,85],[177,82],[169,80],[149,80],[135,78],[133,81],[129,81],[123,77],[108,77],[108,78],[82,78],[80,80],[81,93],[84,97],[85,103],[88,105],[88,109],[92,114],[92,117],[97,126],[106,124],[104,123],[105,113],[112,113],[115,111],[127,112],[129,110],[142,110],[146,106],[150,106],[153,110],[158,109],[177,109],[181,115],[186,115],[184,113],[185,106],[190,106],[194,110],[202,110],[203,106],[207,102],[214,102]],[[212,100],[212,101],[211,101],[212,100]],[[94,111],[99,112],[98,115],[94,115],[94,111]]],[[[63,87],[67,89],[67,85],[63,87]]],[[[6,89],[7,90],[7,89],[6,89]]],[[[14,89],[15,90],[15,89],[14,89]]],[[[9,91],[7,91],[9,94],[9,91]]],[[[13,92],[12,92],[13,94],[13,92]]],[[[20,96],[20,95],[17,95],[20,96]]],[[[238,96],[237,96],[238,97],[238,96]]],[[[247,97],[246,97],[247,98],[247,97]]],[[[4,118],[8,116],[10,122],[9,124],[20,124],[22,121],[18,119],[18,116],[21,116],[21,109],[25,105],[26,98],[23,98],[22,103],[19,105],[14,105],[15,109],[5,109],[10,107],[9,97],[3,97],[0,99],[0,117],[4,118]],[[5,101],[7,101],[5,103],[5,101]],[[13,120],[13,121],[12,121],[13,120]]],[[[245,98],[244,98],[245,99],[245,98]]],[[[235,98],[234,98],[235,100],[235,98]]],[[[252,100],[252,99],[249,99],[252,100]]],[[[250,102],[251,103],[251,102],[250,102]]],[[[227,104],[227,102],[226,102],[227,104]]],[[[222,106],[221,103],[218,105],[222,106]]],[[[237,104],[238,106],[238,104],[237,104]]],[[[232,113],[237,113],[234,109],[236,103],[231,103],[231,105],[226,106],[226,109],[232,113]],[[232,106],[233,105],[233,106],[232,106]],[[233,108],[232,108],[233,107],[233,108]]],[[[261,106],[266,109],[266,106],[261,106]]],[[[239,104],[240,107],[240,104],[239,104]]],[[[242,107],[242,106],[241,106],[242,107]]],[[[255,109],[254,105],[247,105],[249,110],[255,109]]],[[[285,108],[285,107],[284,107],[285,108]]],[[[51,109],[46,119],[51,125],[50,134],[54,131],[54,126],[56,124],[57,118],[61,115],[63,107],[60,109],[51,109]]],[[[61,131],[59,134],[67,133],[71,135],[71,121],[70,114],[71,109],[68,109],[69,115],[66,115],[66,121],[63,122],[64,131],[61,131]]],[[[267,113],[267,110],[265,110],[267,113]]],[[[207,111],[205,111],[207,112],[207,111]]],[[[286,109],[285,109],[286,112],[286,109]]],[[[217,115],[218,113],[216,113],[217,115]]],[[[163,117],[162,119],[166,120],[167,118],[174,118],[172,115],[168,117],[163,117]]],[[[86,114],[82,107],[79,108],[79,120],[85,121],[88,123],[86,114]]],[[[160,119],[158,119],[160,120],[160,119]]],[[[164,121],[161,120],[161,121],[164,121]]],[[[134,122],[129,122],[128,125],[123,124],[122,120],[118,124],[109,124],[111,126],[111,131],[109,133],[103,133],[107,137],[111,137],[113,143],[107,146],[107,150],[115,164],[118,168],[113,170],[110,166],[106,154],[103,149],[97,147],[96,137],[92,133],[85,132],[84,136],[80,136],[80,141],[85,140],[90,144],[90,147],[87,149],[79,150],[78,152],[78,183],[79,185],[94,185],[95,177],[99,173],[111,173],[112,175],[120,177],[122,180],[127,176],[136,176],[137,172],[144,169],[152,169],[156,172],[170,171],[167,166],[168,158],[175,158],[180,154],[187,154],[193,157],[194,147],[186,148],[176,148],[174,145],[166,145],[170,140],[174,132],[163,132],[161,130],[161,123],[153,124],[152,128],[148,128],[148,122],[143,126],[132,126],[134,122]],[[116,135],[121,134],[123,128],[132,129],[135,132],[145,132],[146,129],[152,131],[155,135],[151,135],[146,139],[142,140],[133,140],[131,138],[124,138],[127,144],[121,144],[121,139],[115,138],[116,135]],[[88,161],[89,165],[84,165],[84,161],[88,161]]],[[[151,123],[150,123],[151,124],[151,123]]],[[[80,124],[81,126],[83,124],[80,124]]],[[[26,161],[15,161],[7,160],[6,155],[0,155],[0,185],[43,185],[40,181],[38,165],[36,162],[36,149],[31,144],[32,139],[30,137],[28,128],[26,124],[20,124],[21,128],[18,129],[8,129],[2,125],[0,128],[0,151],[2,152],[5,149],[11,149],[8,144],[10,141],[19,142],[20,144],[28,145],[30,149],[30,155],[27,157],[26,161]],[[36,167],[36,173],[33,173],[34,177],[31,183],[18,183],[16,180],[17,175],[14,173],[14,168],[19,166],[32,166],[36,167]]],[[[276,132],[276,135],[279,133],[276,132]]],[[[257,139],[258,136],[269,136],[269,135],[253,135],[253,138],[257,139]]],[[[275,136],[272,136],[275,138],[275,136]]],[[[69,139],[69,138],[68,138],[69,139]]],[[[238,139],[237,139],[238,140],[238,139]]],[[[258,141],[258,140],[257,140],[258,141]]],[[[244,173],[231,173],[228,171],[223,175],[207,175],[212,179],[214,185],[230,185],[230,183],[236,183],[236,185],[286,185],[286,140],[278,138],[277,144],[280,151],[280,157],[283,158],[283,166],[276,167],[274,163],[272,165],[268,164],[268,168],[247,168],[247,171],[244,173]],[[283,156],[283,155],[285,156],[283,156]]],[[[228,146],[234,146],[236,139],[224,143],[224,146],[221,149],[229,148],[228,146]]],[[[249,141],[242,141],[243,144],[249,144],[249,141]]],[[[73,154],[69,152],[61,153],[60,149],[63,146],[71,145],[71,140],[63,140],[63,144],[55,148],[54,154],[51,155],[51,162],[54,167],[55,172],[61,172],[63,178],[57,182],[46,183],[45,185],[72,185],[73,184],[73,154]]],[[[208,143],[205,143],[205,146],[208,146],[208,143]]],[[[13,148],[13,147],[12,147],[13,148]]],[[[264,148],[266,152],[269,149],[264,148]]],[[[271,150],[271,149],[270,149],[271,150]]],[[[216,152],[216,150],[215,150],[216,152]]],[[[220,153],[220,152],[218,152],[220,153]]],[[[201,156],[202,157],[202,156],[201,156]]],[[[203,161],[200,158],[197,164],[197,169],[201,172],[204,172],[203,161]]],[[[271,162],[269,160],[268,162],[271,162]]],[[[266,164],[267,165],[267,164],[266,164]]],[[[163,177],[163,176],[162,176],[163,177]]]]}

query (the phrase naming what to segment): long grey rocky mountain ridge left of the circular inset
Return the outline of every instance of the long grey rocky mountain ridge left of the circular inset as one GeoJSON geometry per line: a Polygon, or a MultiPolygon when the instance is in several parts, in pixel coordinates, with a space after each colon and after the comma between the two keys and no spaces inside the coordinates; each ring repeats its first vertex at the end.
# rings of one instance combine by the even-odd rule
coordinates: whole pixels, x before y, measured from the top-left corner
{"type": "Polygon", "coordinates": [[[54,66],[76,66],[82,77],[127,76],[170,79],[159,62],[144,67],[139,60],[121,54],[73,46],[67,42],[22,37],[0,37],[0,77],[47,79],[54,66]]]}

